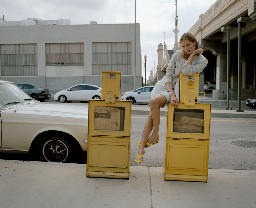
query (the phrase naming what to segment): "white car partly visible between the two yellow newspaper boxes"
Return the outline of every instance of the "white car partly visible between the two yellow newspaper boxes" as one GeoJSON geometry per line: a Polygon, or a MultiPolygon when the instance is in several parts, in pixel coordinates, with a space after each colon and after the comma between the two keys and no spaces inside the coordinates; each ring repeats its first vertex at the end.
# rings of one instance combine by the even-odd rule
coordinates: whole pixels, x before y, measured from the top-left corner
{"type": "Polygon", "coordinates": [[[121,100],[131,100],[134,103],[150,103],[151,91],[154,86],[140,87],[136,90],[128,92],[127,95],[122,95],[121,100]]]}

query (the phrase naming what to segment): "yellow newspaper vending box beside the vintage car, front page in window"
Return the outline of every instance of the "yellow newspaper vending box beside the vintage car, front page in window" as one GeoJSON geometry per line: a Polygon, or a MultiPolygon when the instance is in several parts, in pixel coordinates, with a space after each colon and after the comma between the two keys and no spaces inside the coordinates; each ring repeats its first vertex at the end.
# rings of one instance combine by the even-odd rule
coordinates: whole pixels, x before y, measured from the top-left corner
{"type": "Polygon", "coordinates": [[[102,72],[105,100],[89,100],[87,177],[129,179],[132,102],[119,100],[120,84],[120,72],[102,72]]]}

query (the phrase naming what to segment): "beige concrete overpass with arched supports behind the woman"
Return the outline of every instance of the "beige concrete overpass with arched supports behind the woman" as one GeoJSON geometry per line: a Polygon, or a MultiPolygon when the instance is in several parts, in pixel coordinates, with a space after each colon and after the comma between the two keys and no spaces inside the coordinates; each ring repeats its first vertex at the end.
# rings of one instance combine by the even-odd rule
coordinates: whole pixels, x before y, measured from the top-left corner
{"type": "MultiPolygon", "coordinates": [[[[217,86],[216,90],[213,91],[213,97],[226,99],[228,33],[222,32],[221,28],[227,28],[228,26],[231,28],[229,40],[230,64],[228,69],[230,74],[230,99],[237,99],[238,78],[240,76],[241,101],[244,102],[246,98],[256,97],[255,0],[217,0],[204,14],[199,16],[198,21],[188,30],[196,37],[199,46],[204,48],[203,55],[208,59],[207,67],[200,73],[199,88],[204,89],[204,82],[216,81],[217,86]],[[240,37],[239,30],[241,30],[240,37]],[[238,72],[239,43],[241,44],[240,73],[238,72]]],[[[150,76],[149,83],[155,83],[165,75],[166,67],[175,51],[174,49],[168,50],[165,44],[160,43],[157,52],[156,74],[150,76]]]]}

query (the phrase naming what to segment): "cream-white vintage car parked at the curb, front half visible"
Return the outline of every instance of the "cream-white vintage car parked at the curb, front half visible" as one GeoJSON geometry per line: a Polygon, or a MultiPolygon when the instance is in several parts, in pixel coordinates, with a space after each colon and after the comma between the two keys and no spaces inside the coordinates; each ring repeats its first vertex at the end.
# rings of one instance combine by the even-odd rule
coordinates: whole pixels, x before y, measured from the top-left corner
{"type": "Polygon", "coordinates": [[[39,161],[80,162],[87,151],[88,108],[40,103],[0,80],[0,152],[39,161]]]}

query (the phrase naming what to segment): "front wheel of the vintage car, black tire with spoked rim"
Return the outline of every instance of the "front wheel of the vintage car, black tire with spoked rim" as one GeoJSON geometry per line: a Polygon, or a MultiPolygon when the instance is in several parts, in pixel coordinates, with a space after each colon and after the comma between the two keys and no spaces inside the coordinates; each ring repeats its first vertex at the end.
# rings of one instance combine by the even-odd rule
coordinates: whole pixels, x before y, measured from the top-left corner
{"type": "Polygon", "coordinates": [[[45,134],[38,141],[34,148],[34,156],[39,161],[72,162],[75,155],[81,152],[77,151],[75,143],[62,133],[45,134]]]}

